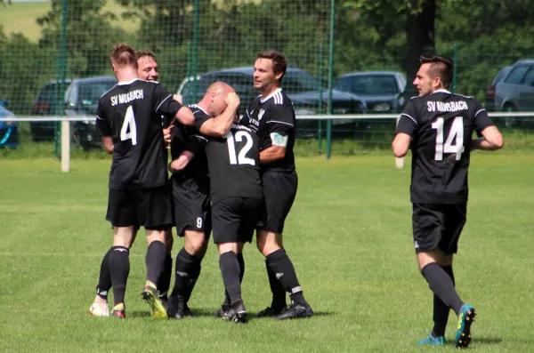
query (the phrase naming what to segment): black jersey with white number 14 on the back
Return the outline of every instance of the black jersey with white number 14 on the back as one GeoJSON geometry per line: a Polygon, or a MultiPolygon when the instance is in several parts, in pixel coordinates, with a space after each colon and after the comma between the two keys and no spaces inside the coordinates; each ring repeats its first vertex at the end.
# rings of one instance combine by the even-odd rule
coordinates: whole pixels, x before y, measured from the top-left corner
{"type": "Polygon", "coordinates": [[[473,97],[439,90],[414,97],[402,111],[397,133],[412,137],[411,202],[467,202],[473,131],[493,125],[473,97]]]}

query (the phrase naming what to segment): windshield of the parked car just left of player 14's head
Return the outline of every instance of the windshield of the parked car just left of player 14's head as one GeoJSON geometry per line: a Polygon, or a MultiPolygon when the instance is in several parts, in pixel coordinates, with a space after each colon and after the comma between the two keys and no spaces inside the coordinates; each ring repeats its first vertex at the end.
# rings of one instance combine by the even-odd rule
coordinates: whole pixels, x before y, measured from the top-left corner
{"type": "Polygon", "coordinates": [[[360,95],[392,94],[399,92],[395,77],[384,75],[345,76],[336,82],[334,88],[339,91],[352,92],[360,95]]]}

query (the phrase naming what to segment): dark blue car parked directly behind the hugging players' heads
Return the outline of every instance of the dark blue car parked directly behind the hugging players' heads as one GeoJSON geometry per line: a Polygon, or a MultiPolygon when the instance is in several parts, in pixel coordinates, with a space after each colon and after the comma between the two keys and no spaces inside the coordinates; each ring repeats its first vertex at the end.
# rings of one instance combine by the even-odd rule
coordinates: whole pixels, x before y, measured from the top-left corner
{"type": "MultiPolygon", "coordinates": [[[[183,97],[184,104],[197,103],[202,99],[207,87],[215,81],[223,81],[236,90],[242,102],[239,114],[243,115],[250,101],[254,100],[258,92],[254,89],[254,68],[228,68],[218,71],[207,72],[199,76],[196,90],[194,83],[185,82],[182,84],[182,92],[178,92],[183,97]],[[187,88],[187,89],[185,89],[187,88]]],[[[326,114],[328,106],[328,90],[320,84],[320,81],[300,68],[287,68],[282,79],[282,89],[293,101],[295,114],[317,115],[326,114]],[[321,99],[322,96],[322,99],[321,99]]],[[[365,104],[354,94],[332,91],[332,108],[334,114],[360,114],[365,111],[365,104]]],[[[333,125],[338,132],[352,133],[359,127],[359,121],[353,120],[333,120],[333,125]]],[[[317,132],[317,122],[313,120],[297,120],[295,129],[298,136],[315,136],[317,132]]]]}

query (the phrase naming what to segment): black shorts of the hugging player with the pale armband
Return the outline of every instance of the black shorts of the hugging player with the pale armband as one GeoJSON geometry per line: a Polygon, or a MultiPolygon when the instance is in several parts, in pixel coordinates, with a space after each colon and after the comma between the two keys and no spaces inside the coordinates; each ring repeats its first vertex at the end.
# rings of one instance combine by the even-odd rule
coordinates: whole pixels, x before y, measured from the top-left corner
{"type": "Polygon", "coordinates": [[[256,228],[282,234],[287,214],[295,201],[298,177],[295,171],[264,172],[262,182],[265,213],[256,228]]]}

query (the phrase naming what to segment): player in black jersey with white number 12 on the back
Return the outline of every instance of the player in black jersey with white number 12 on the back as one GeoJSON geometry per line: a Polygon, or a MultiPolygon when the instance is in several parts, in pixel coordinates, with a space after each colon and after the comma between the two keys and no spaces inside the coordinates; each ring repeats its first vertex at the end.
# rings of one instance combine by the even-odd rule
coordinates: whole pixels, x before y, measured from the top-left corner
{"type": "Polygon", "coordinates": [[[191,146],[173,161],[175,165],[171,169],[183,168],[198,154],[197,151],[205,149],[214,243],[219,250],[219,265],[230,302],[230,307],[223,312],[223,319],[246,323],[247,309],[241,298],[242,272],[238,250],[252,241],[263,209],[259,140],[247,126],[233,124],[231,131],[221,138],[197,135],[196,142],[195,147],[191,146]]]}

